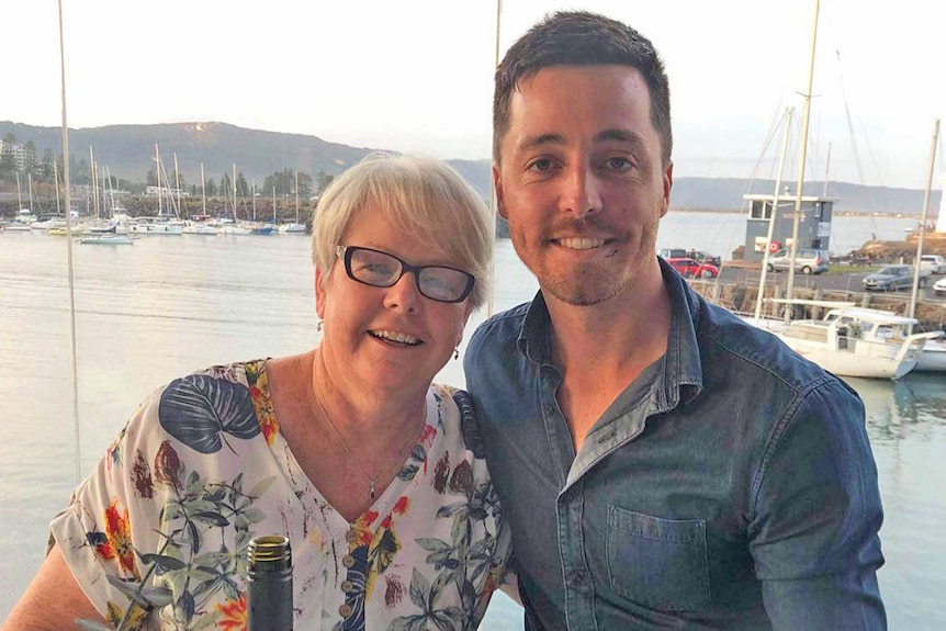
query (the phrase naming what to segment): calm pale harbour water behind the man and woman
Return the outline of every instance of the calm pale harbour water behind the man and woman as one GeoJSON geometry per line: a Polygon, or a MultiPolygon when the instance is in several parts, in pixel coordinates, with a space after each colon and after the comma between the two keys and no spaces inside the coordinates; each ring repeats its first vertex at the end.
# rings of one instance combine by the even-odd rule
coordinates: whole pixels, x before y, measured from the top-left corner
{"type": "MultiPolygon", "coordinates": [[[[728,258],[744,222],[671,213],[657,245],[728,258]]],[[[836,217],[832,250],[846,252],[871,234],[900,239],[911,223],[836,217]]],[[[0,620],[42,561],[47,523],[77,475],[91,470],[144,396],[213,363],[301,352],[318,341],[304,237],[148,237],[131,247],[76,244],[74,258],[78,431],[65,241],[0,233],[0,620]]],[[[498,241],[493,308],[536,289],[509,241],[498,241]]],[[[484,315],[474,314],[466,337],[484,315]]],[[[438,381],[462,385],[460,367],[451,360],[438,381]]],[[[851,384],[867,408],[880,474],[890,628],[946,628],[946,380],[851,384]]],[[[521,613],[499,596],[483,628],[521,629],[521,613]]]]}

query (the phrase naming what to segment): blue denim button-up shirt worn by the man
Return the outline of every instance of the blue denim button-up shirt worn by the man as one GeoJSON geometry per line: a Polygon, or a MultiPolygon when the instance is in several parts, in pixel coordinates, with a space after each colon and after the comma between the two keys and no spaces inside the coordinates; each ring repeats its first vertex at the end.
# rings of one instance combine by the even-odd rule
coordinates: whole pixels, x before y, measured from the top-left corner
{"type": "Polygon", "coordinates": [[[885,629],[860,399],[662,269],[666,353],[577,454],[541,292],[468,348],[526,629],[885,629]]]}

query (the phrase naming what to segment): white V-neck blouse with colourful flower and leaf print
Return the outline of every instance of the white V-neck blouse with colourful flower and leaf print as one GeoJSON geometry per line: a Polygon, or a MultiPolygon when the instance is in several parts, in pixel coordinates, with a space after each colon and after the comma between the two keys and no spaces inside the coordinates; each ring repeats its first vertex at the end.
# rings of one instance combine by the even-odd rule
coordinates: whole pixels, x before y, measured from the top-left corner
{"type": "Polygon", "coordinates": [[[127,617],[142,629],[246,629],[247,545],[285,534],[295,629],[475,630],[505,572],[509,531],[471,451],[469,398],[451,392],[430,387],[407,461],[349,523],[280,433],[263,360],[176,380],[138,408],[53,536],[114,626],[127,617]],[[150,608],[133,605],[143,597],[150,608]]]}

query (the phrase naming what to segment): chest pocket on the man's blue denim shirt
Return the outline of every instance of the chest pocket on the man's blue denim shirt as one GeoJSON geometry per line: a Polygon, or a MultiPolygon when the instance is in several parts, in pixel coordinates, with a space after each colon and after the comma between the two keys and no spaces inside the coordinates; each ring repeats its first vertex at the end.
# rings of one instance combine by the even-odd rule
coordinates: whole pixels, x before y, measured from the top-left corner
{"type": "Polygon", "coordinates": [[[706,521],[608,506],[608,578],[617,594],[663,611],[710,602],[706,521]]]}

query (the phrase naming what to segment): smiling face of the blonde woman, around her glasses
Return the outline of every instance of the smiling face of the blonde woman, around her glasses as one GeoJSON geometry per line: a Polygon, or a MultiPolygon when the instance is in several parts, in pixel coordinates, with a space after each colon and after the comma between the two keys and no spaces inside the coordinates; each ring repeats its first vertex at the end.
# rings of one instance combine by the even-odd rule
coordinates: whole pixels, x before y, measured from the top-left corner
{"type": "MultiPolygon", "coordinates": [[[[382,250],[414,266],[461,267],[370,207],[351,223],[341,245],[382,250]]],[[[338,385],[357,388],[426,392],[460,343],[470,315],[469,297],[442,303],[423,296],[410,272],[390,288],[357,282],[346,273],[341,258],[331,270],[316,269],[315,293],[316,311],[325,320],[326,368],[338,385]]]]}

